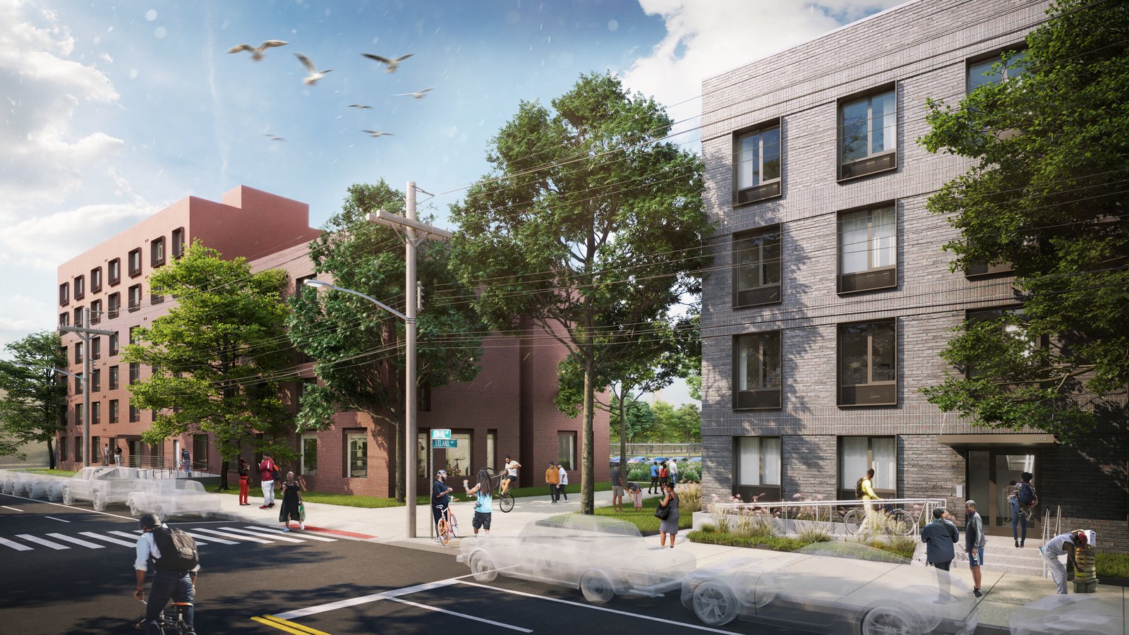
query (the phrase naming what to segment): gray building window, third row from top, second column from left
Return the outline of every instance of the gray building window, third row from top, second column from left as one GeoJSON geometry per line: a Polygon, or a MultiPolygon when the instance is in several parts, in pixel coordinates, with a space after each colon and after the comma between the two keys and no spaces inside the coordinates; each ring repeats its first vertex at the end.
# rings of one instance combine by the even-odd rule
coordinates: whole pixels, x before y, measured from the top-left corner
{"type": "Polygon", "coordinates": [[[839,324],[839,406],[898,403],[898,324],[839,324]]]}

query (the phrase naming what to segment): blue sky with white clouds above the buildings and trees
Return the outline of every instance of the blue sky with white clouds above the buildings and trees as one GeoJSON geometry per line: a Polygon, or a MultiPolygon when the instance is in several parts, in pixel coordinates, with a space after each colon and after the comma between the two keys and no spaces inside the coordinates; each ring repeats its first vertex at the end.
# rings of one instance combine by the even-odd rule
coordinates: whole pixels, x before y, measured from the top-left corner
{"type": "Polygon", "coordinates": [[[318,227],[352,183],[415,181],[449,227],[522,101],[612,72],[698,153],[704,78],[899,3],[0,0],[0,346],[54,328],[60,263],[184,197],[244,184],[318,227]],[[268,40],[288,44],[227,53],[268,40]],[[305,85],[298,53],[331,71],[305,85]]]}

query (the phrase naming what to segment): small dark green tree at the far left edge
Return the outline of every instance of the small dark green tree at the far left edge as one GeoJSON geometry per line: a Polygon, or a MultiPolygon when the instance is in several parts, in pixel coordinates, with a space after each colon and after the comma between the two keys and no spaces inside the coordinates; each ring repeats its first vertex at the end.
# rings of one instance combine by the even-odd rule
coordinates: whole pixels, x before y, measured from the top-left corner
{"type": "Polygon", "coordinates": [[[54,371],[67,365],[67,351],[61,347],[59,336],[51,331],[32,333],[5,347],[12,360],[0,360],[0,456],[23,460],[26,455],[20,447],[46,442],[49,464],[55,468],[53,443],[65,423],[59,411],[67,406],[67,382],[54,371]]]}

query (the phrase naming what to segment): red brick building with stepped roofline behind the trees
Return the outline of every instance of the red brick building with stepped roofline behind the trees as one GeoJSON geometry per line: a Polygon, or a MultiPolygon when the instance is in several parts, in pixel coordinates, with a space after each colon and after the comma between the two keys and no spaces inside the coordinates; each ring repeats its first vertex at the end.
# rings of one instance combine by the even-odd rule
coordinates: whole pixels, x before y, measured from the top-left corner
{"type": "MultiPolygon", "coordinates": [[[[91,461],[100,461],[102,447],[108,443],[111,449],[122,447],[128,464],[172,467],[181,449],[187,447],[198,470],[219,470],[219,453],[205,434],[186,434],[155,446],[141,442],[152,414],[129,405],[128,386],[148,377],[149,368],[122,363],[119,351],[128,343],[131,328],[148,325],[174,302],[149,293],[148,275],[199,238],[225,258],[246,258],[255,270],[285,269],[294,293],[313,273],[307,245],[318,233],[309,227],[307,205],[240,185],[225,193],[221,202],[185,198],[59,267],[60,325],[86,324],[89,318],[89,325],[117,332],[94,338],[88,351],[82,350],[78,336],[63,333],[69,372],[82,373],[81,356],[91,357],[91,461]]],[[[421,492],[439,467],[447,467],[454,476],[471,475],[485,464],[500,468],[507,454],[524,466],[520,485],[541,485],[545,466],[555,459],[569,462],[569,479],[579,482],[581,421],[566,418],[552,403],[557,364],[566,350],[536,334],[531,330],[532,337],[488,338],[474,381],[434,389],[422,400],[418,416],[421,492]],[[436,450],[432,459],[431,428],[449,428],[458,447],[436,450]]],[[[308,364],[303,375],[313,377],[308,364]]],[[[69,384],[67,426],[58,445],[64,468],[81,461],[81,386],[73,379],[69,384]]],[[[297,414],[295,398],[301,383],[285,390],[297,414]]],[[[597,412],[595,426],[596,478],[606,479],[606,412],[597,412]]],[[[298,459],[283,468],[305,475],[309,487],[321,492],[390,496],[394,438],[390,426],[374,423],[368,415],[341,412],[327,430],[291,434],[289,442],[298,459]]],[[[251,449],[245,455],[255,459],[251,449]]]]}

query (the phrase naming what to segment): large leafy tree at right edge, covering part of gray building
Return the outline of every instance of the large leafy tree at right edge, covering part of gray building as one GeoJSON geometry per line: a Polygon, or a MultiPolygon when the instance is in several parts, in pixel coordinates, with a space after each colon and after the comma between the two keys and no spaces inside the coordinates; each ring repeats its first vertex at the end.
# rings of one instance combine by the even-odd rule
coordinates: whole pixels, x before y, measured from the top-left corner
{"type": "Polygon", "coordinates": [[[1096,423],[1094,399],[1129,383],[1129,6],[1064,0],[959,106],[929,102],[929,151],[973,159],[930,197],[960,229],[953,270],[1010,263],[1022,314],[966,321],[922,389],[974,425],[1034,426],[1062,441],[1096,423]],[[1005,69],[1007,69],[1005,71],[1005,69]],[[1047,343],[1048,346],[1032,346],[1047,343]]]}

